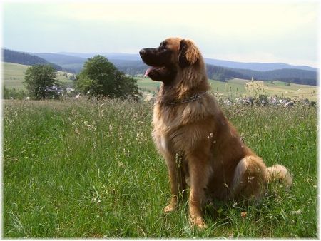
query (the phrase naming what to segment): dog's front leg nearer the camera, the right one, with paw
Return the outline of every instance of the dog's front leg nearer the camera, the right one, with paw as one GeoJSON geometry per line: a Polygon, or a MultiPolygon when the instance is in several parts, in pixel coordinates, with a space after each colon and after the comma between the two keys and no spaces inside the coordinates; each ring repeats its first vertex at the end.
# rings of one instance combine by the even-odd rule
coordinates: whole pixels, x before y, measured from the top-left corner
{"type": "Polygon", "coordinates": [[[206,228],[203,220],[202,205],[205,201],[205,188],[208,184],[210,166],[208,154],[203,150],[195,151],[188,156],[190,173],[189,212],[190,224],[199,228],[206,228]]]}

